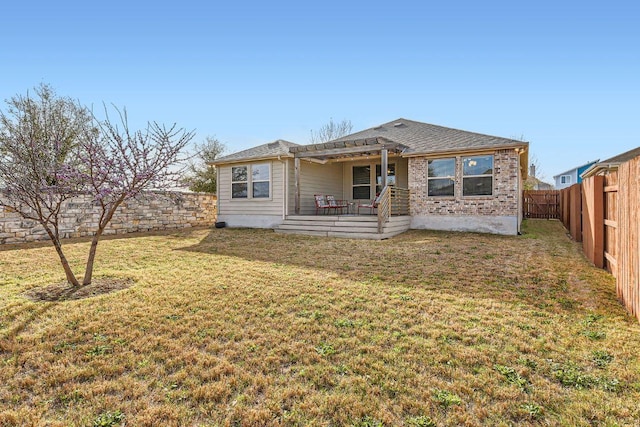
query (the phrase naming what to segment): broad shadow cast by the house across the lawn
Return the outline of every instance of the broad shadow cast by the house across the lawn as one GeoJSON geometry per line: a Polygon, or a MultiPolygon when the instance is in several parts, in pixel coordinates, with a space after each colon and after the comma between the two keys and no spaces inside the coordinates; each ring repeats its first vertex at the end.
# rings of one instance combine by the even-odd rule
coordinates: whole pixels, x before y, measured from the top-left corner
{"type": "MultiPolygon", "coordinates": [[[[572,298],[595,298],[572,294],[567,289],[567,274],[549,267],[555,265],[550,248],[558,242],[574,244],[564,234],[556,237],[411,230],[372,241],[212,229],[198,244],[179,250],[322,270],[352,281],[389,286],[390,294],[423,289],[526,304],[540,311],[571,312],[584,303],[572,298]]],[[[589,268],[583,259],[578,262],[589,268]]]]}

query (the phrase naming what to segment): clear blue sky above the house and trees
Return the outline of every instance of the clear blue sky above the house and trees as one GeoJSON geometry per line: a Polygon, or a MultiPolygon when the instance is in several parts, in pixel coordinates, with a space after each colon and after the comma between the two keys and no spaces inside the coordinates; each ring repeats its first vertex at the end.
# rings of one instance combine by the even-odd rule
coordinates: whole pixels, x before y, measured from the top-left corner
{"type": "Polygon", "coordinates": [[[404,117],[522,136],[550,181],[640,146],[639,22],[617,0],[10,2],[0,98],[48,83],[229,152],[404,117]]]}

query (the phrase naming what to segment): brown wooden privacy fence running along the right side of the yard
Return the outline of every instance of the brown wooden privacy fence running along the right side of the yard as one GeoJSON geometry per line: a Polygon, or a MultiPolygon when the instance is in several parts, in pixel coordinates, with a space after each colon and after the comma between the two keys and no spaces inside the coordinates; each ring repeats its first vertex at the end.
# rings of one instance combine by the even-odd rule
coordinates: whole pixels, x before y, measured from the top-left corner
{"type": "Polygon", "coordinates": [[[640,157],[560,190],[560,219],[597,267],[616,278],[616,292],[640,320],[640,157]]]}

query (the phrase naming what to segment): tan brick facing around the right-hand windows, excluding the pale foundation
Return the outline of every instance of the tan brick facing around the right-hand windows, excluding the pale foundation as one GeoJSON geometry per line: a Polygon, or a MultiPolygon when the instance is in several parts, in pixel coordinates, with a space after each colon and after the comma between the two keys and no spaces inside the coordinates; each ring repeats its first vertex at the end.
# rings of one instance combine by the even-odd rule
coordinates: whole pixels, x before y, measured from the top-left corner
{"type": "Polygon", "coordinates": [[[454,197],[428,197],[428,158],[409,158],[411,215],[518,216],[519,155],[513,149],[493,154],[493,195],[472,197],[462,196],[462,156],[456,158],[454,197]]]}

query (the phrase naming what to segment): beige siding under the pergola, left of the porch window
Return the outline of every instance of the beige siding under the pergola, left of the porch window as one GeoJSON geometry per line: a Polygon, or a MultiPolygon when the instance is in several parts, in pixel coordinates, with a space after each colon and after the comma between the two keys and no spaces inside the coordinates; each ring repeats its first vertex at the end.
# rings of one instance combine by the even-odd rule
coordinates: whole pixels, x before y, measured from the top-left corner
{"type": "MultiPolygon", "coordinates": [[[[295,213],[295,169],[293,159],[289,165],[289,211],[295,213]]],[[[339,163],[313,163],[300,161],[300,214],[314,215],[316,213],[315,194],[331,194],[336,199],[345,199],[342,190],[342,165],[339,163]]]]}

